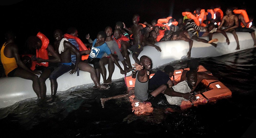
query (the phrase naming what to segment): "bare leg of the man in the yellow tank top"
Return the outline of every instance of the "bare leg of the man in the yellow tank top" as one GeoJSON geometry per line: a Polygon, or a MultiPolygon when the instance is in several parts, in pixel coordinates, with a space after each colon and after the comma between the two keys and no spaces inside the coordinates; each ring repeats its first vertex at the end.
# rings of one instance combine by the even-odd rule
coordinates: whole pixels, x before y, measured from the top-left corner
{"type": "Polygon", "coordinates": [[[38,99],[41,98],[39,79],[35,74],[33,74],[29,71],[26,71],[24,69],[18,68],[15,71],[14,76],[15,77],[20,77],[20,78],[23,78],[23,79],[27,79],[27,80],[32,80],[33,81],[33,84],[32,84],[33,90],[35,91],[38,99]]]}

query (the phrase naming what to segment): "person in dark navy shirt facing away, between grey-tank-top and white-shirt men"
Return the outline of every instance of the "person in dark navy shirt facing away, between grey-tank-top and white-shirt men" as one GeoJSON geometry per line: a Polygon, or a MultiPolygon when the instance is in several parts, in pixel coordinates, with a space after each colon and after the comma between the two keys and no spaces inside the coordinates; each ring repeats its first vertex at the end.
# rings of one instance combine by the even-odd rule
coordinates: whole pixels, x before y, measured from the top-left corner
{"type": "Polygon", "coordinates": [[[172,87],[173,81],[170,77],[173,76],[174,68],[171,65],[164,67],[164,71],[157,70],[154,76],[148,80],[148,91],[153,91],[161,85],[167,85],[169,88],[172,87]]]}

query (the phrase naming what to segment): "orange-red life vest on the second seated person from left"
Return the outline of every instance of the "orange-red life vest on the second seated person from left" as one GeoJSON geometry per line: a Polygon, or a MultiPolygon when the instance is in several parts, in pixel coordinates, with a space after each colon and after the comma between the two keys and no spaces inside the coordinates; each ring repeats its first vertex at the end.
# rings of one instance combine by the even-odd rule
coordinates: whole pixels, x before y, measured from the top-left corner
{"type": "MultiPolygon", "coordinates": [[[[48,44],[49,44],[49,39],[41,32],[38,32],[36,36],[42,41],[41,48],[36,49],[36,57],[39,57],[42,59],[49,59],[48,51],[46,50],[46,48],[48,47],[48,44]]],[[[37,65],[48,67],[49,62],[37,63],[37,65]]]]}

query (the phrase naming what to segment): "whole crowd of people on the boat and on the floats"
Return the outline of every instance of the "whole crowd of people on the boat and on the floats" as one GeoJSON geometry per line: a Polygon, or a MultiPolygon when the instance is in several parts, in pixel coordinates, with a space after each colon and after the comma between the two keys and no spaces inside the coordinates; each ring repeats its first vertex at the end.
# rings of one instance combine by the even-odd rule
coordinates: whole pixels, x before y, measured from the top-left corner
{"type": "Polygon", "coordinates": [[[251,33],[254,46],[256,46],[254,30],[248,26],[252,20],[245,19],[243,11],[245,10],[227,8],[226,15],[223,16],[220,7],[207,9],[207,12],[201,8],[195,9],[194,12],[186,9],[182,13],[183,19],[176,21],[173,17],[166,17],[152,20],[151,24],[139,23],[140,16],[135,14],[132,18],[133,25],[130,28],[124,22],[116,22],[114,29],[110,26],[106,27],[104,31],[98,32],[94,40],[87,34],[88,43],[78,38],[78,30],[75,27],[69,27],[66,33],[56,29],[53,32],[55,41],[52,43],[49,42],[47,36],[38,32],[37,35],[28,37],[26,41],[26,46],[36,55],[19,55],[18,46],[15,43],[16,36],[12,31],[7,31],[6,42],[1,48],[1,61],[7,77],[32,80],[33,89],[41,100],[46,97],[45,81],[49,78],[51,94],[55,95],[58,88],[57,78],[66,72],[70,74],[76,72],[78,74],[79,70],[89,72],[95,84],[94,89],[109,89],[116,65],[121,74],[133,71],[133,77],[136,78],[135,96],[140,101],[153,100],[162,93],[169,104],[179,105],[179,102],[184,99],[196,100],[190,92],[202,79],[217,78],[197,72],[198,62],[194,61],[189,66],[190,71],[183,72],[185,74],[180,83],[174,85],[168,79],[174,71],[171,66],[167,66],[164,72],[159,71],[159,75],[156,76],[161,77],[154,77],[156,80],[152,83],[154,78],[151,82],[148,81],[151,59],[144,55],[140,57],[140,60],[138,59],[143,47],[152,46],[161,52],[161,48],[156,45],[157,42],[183,40],[189,44],[187,57],[190,58],[194,40],[217,47],[214,42],[218,39],[212,39],[212,36],[213,33],[221,33],[226,37],[227,45],[229,45],[227,32],[232,33],[236,39],[237,50],[240,47],[236,32],[251,33]],[[208,36],[209,39],[202,39],[201,36],[208,36]],[[134,64],[131,64],[130,54],[135,61],[134,64]],[[118,61],[121,61],[123,68],[118,61]],[[108,77],[105,68],[107,64],[108,77]],[[101,76],[103,77],[102,84],[100,84],[101,76]],[[174,99],[175,97],[179,98],[174,99]]]}

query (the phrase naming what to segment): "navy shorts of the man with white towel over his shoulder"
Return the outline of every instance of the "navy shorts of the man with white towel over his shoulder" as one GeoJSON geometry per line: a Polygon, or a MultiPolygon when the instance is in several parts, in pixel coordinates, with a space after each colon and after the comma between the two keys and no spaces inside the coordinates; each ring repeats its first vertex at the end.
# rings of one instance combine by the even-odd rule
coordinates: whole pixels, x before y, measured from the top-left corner
{"type": "Polygon", "coordinates": [[[54,71],[51,72],[51,75],[49,77],[50,80],[57,80],[61,75],[64,73],[70,71],[72,69],[71,65],[65,65],[65,64],[58,64],[58,67],[54,69],[54,71]]]}

